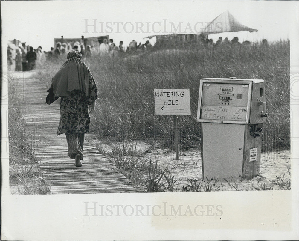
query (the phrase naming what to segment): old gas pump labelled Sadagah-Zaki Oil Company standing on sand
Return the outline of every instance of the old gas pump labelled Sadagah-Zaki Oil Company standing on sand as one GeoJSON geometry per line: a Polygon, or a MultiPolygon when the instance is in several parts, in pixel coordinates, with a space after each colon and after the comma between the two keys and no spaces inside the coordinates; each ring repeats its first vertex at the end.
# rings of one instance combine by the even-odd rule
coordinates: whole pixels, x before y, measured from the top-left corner
{"type": "Polygon", "coordinates": [[[267,115],[264,80],[201,79],[197,121],[202,180],[258,175],[267,115]]]}

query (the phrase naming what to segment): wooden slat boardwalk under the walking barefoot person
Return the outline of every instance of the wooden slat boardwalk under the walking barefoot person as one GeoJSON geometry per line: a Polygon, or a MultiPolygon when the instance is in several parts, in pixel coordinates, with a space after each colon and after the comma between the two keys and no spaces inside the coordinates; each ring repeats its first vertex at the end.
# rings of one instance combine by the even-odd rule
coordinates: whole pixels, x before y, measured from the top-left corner
{"type": "Polygon", "coordinates": [[[13,75],[13,96],[19,96],[26,128],[35,134],[36,158],[40,160],[51,194],[142,192],[86,140],[82,167],[76,168],[74,159],[68,157],[65,135],[56,136],[60,99],[47,105],[44,82],[30,72],[19,73],[21,78],[17,77],[18,73],[13,75]]]}

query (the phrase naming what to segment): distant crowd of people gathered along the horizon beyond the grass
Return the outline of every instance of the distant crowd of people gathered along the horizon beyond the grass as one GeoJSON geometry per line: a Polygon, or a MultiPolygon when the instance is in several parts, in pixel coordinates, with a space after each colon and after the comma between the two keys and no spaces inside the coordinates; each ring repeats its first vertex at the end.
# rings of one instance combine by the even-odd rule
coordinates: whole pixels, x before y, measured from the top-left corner
{"type": "MultiPolygon", "coordinates": [[[[226,37],[222,40],[222,37],[213,43],[213,39],[206,39],[203,41],[209,48],[220,46],[222,44],[232,44],[239,45],[238,37],[234,37],[231,41],[226,37]]],[[[249,41],[244,41],[242,44],[250,44],[249,41]]],[[[267,44],[267,40],[263,39],[263,44],[267,44]]],[[[137,44],[135,40],[129,43],[129,46],[124,47],[123,41],[119,42],[117,46],[113,39],[108,40],[105,38],[99,46],[95,47],[93,45],[87,45],[86,47],[79,42],[71,43],[56,43],[55,48],[51,47],[49,52],[43,51],[42,47],[39,46],[37,49],[33,49],[31,46],[26,46],[25,43],[19,43],[18,46],[10,43],[7,46],[7,65],[10,71],[27,71],[32,70],[38,65],[42,65],[46,60],[57,60],[61,55],[68,54],[69,52],[76,50],[81,53],[82,59],[86,60],[91,58],[93,55],[106,56],[114,58],[118,55],[123,55],[124,53],[135,53],[140,51],[149,50],[152,48],[149,40],[144,44],[137,44]]]]}

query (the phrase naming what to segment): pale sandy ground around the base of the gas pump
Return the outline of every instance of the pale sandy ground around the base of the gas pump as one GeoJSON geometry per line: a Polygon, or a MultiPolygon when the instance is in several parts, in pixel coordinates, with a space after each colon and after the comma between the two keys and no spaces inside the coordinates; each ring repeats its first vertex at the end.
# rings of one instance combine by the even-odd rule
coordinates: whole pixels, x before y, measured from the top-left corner
{"type": "MultiPolygon", "coordinates": [[[[179,179],[179,189],[183,185],[186,186],[187,179],[202,180],[202,168],[201,168],[201,151],[197,149],[191,149],[179,153],[179,160],[176,160],[175,151],[153,150],[152,153],[147,155],[154,157],[154,153],[159,157],[158,163],[162,168],[168,168],[171,170],[171,174],[175,175],[179,179]]],[[[214,189],[219,187],[219,191],[236,191],[238,190],[255,190],[258,189],[263,183],[267,183],[266,189],[283,190],[285,186],[274,185],[271,181],[277,180],[277,177],[283,177],[284,181],[289,180],[291,175],[288,173],[287,166],[290,165],[290,152],[289,151],[276,151],[271,153],[261,154],[261,166],[260,175],[254,177],[252,180],[241,180],[241,178],[233,178],[228,180],[231,185],[225,180],[218,180],[214,189]],[[236,188],[235,188],[235,187],[236,188]]],[[[204,182],[202,182],[204,183],[204,182]]],[[[208,181],[205,180],[204,184],[208,181]]],[[[214,183],[213,181],[211,183],[214,183]]],[[[260,187],[261,189],[261,187],[260,187]]]]}

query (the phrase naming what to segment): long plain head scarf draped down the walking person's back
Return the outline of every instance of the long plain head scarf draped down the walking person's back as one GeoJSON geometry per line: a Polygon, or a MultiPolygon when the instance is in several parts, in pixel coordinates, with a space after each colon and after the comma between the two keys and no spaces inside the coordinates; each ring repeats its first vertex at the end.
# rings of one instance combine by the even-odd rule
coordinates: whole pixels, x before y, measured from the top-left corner
{"type": "Polygon", "coordinates": [[[88,67],[81,60],[78,51],[68,53],[66,61],[52,78],[55,97],[68,96],[72,91],[80,91],[88,96],[88,67]]]}

